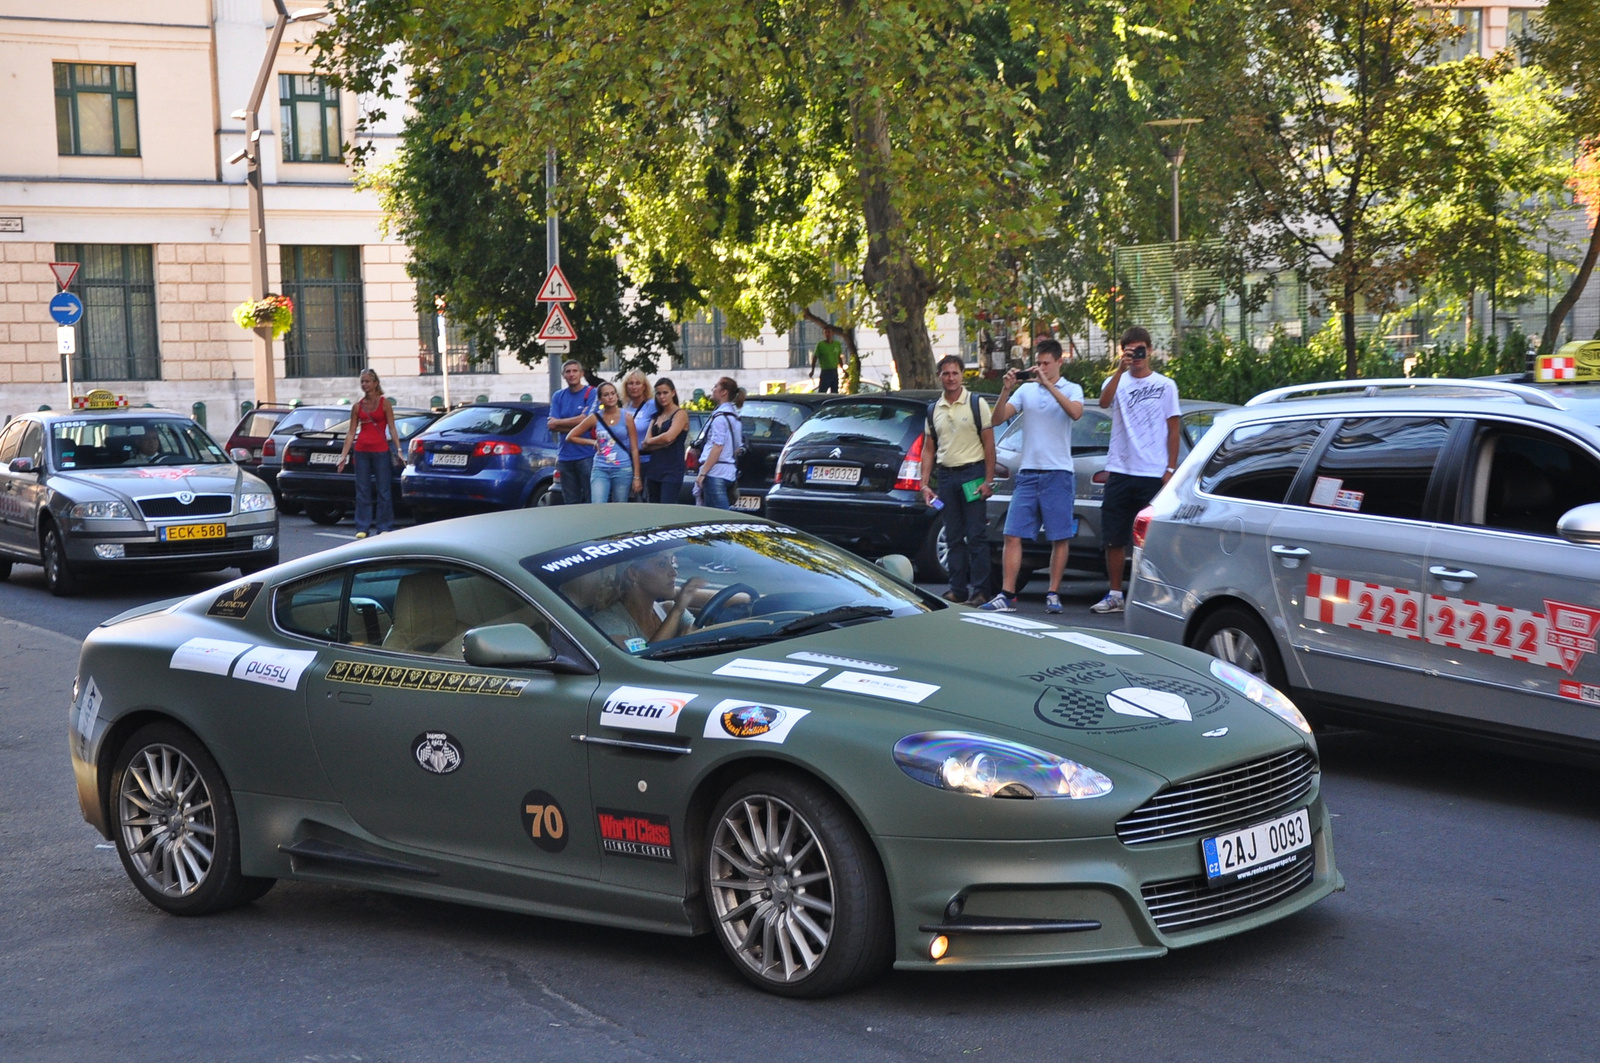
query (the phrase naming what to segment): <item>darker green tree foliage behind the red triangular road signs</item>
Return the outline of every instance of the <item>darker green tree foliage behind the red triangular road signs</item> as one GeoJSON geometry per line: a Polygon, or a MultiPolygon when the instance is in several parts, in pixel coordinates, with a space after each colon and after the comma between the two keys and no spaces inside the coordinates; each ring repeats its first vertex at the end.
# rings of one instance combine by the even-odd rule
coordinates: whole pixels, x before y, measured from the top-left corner
{"type": "MultiPolygon", "coordinates": [[[[442,298],[480,349],[504,347],[531,365],[544,357],[538,333],[547,312],[536,299],[546,274],[544,176],[496,181],[493,154],[451,136],[461,96],[421,78],[411,104],[400,152],[366,183],[411,247],[406,269],[418,282],[418,309],[442,298]]],[[[614,351],[624,368],[653,370],[677,339],[662,303],[691,290],[670,275],[635,288],[592,231],[582,216],[562,227],[562,272],[578,296],[568,306],[578,331],[571,357],[592,373],[614,351]]]]}

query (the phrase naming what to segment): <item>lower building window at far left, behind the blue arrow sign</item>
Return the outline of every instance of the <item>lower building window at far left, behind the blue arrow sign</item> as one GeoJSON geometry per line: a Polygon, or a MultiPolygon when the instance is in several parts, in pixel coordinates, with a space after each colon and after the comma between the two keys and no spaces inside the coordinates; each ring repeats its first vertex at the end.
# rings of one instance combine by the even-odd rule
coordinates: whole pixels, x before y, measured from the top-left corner
{"type": "Polygon", "coordinates": [[[72,376],[80,381],[160,379],[155,256],[139,243],[58,243],[56,261],[78,263],[67,288],[83,299],[72,376]]]}

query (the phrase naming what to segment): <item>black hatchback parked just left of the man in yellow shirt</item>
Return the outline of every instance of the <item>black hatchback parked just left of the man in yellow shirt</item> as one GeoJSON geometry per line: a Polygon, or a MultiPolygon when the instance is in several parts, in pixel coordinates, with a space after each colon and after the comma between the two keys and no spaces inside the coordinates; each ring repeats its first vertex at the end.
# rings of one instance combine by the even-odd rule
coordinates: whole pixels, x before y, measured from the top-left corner
{"type": "Polygon", "coordinates": [[[936,511],[922,499],[923,426],[938,397],[898,391],[822,402],[774,464],[766,515],[866,557],[906,554],[938,578],[936,511]]]}

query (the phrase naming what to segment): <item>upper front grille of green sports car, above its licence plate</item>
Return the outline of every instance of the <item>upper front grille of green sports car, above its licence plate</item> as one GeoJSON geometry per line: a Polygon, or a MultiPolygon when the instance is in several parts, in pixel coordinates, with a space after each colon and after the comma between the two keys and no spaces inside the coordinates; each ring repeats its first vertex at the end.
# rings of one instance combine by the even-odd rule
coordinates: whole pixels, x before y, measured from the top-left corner
{"type": "Polygon", "coordinates": [[[1200,837],[1245,826],[1310,791],[1317,757],[1291,749],[1163,789],[1117,823],[1128,845],[1200,837]]]}

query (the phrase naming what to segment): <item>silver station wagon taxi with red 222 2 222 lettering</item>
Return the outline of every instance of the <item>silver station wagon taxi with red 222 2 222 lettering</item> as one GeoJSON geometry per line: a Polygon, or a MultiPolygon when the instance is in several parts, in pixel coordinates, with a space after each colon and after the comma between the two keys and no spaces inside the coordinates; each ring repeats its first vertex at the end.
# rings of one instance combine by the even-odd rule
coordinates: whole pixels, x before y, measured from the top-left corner
{"type": "Polygon", "coordinates": [[[1597,426],[1597,384],[1258,395],[1141,514],[1128,631],[1240,664],[1314,719],[1594,757],[1597,426]]]}

